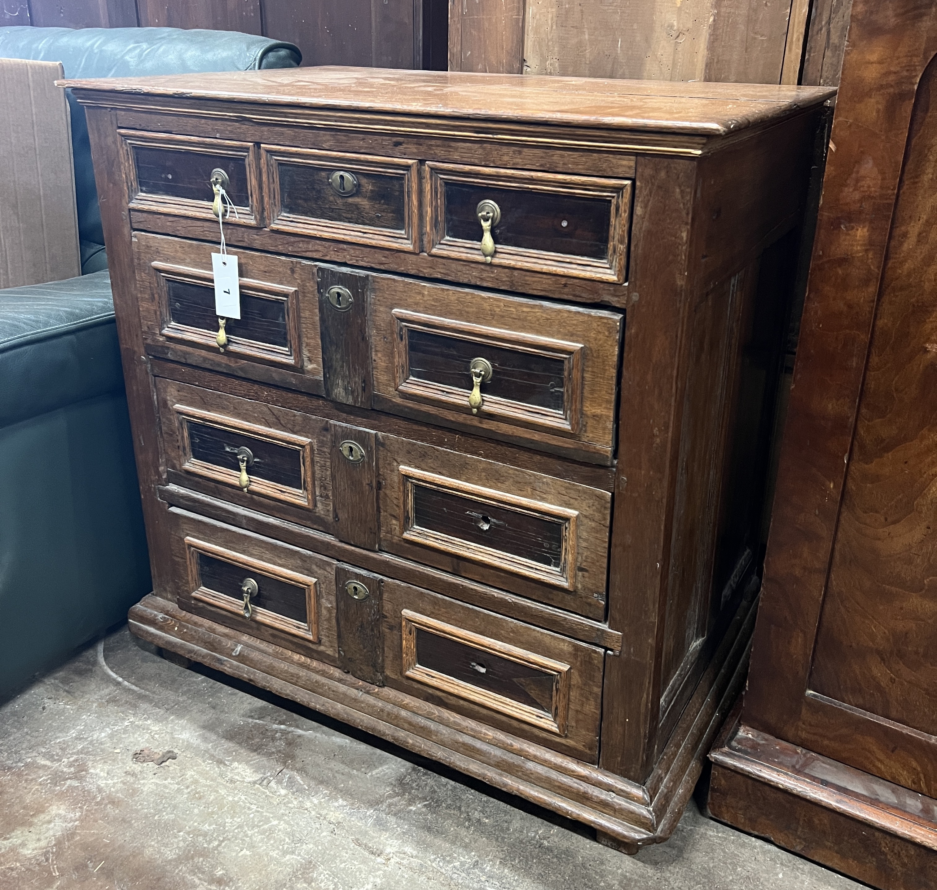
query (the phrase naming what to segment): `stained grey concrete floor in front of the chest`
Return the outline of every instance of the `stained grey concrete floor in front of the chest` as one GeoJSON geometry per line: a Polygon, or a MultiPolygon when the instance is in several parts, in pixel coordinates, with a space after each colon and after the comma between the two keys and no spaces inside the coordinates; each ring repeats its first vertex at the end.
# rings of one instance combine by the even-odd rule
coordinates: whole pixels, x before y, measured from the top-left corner
{"type": "Polygon", "coordinates": [[[125,628],[0,706],[0,888],[847,890],[704,819],[629,857],[587,828],[125,628]],[[201,672],[200,672],[201,671],[201,672]],[[168,749],[162,765],[135,762],[168,749]]]}

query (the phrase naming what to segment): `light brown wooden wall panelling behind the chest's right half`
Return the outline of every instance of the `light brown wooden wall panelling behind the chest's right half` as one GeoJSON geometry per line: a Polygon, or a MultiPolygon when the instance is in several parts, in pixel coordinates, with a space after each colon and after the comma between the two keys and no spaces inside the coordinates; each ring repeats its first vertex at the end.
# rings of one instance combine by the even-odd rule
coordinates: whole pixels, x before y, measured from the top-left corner
{"type": "Polygon", "coordinates": [[[449,67],[839,82],[852,0],[450,0],[449,67]]]}

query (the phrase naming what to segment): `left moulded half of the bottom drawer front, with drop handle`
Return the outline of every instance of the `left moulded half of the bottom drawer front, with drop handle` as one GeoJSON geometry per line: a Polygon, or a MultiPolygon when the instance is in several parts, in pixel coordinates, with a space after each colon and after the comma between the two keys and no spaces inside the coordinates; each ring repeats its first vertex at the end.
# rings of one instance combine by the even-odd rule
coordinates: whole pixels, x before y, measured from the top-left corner
{"type": "Polygon", "coordinates": [[[179,605],[217,624],[335,662],[335,563],[170,511],[179,605]]]}

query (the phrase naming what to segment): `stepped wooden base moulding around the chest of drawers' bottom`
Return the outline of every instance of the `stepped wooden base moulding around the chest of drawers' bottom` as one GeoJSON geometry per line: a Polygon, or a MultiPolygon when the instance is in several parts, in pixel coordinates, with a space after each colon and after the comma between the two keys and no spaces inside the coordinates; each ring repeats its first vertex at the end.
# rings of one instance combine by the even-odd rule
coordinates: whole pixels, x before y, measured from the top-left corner
{"type": "Polygon", "coordinates": [[[742,604],[645,785],[454,715],[386,686],[218,626],[146,596],[129,613],[142,640],[297,701],[328,717],[591,825],[603,844],[634,853],[673,832],[706,751],[747,670],[753,603],[742,604]],[[723,657],[724,656],[724,659],[723,657]]]}

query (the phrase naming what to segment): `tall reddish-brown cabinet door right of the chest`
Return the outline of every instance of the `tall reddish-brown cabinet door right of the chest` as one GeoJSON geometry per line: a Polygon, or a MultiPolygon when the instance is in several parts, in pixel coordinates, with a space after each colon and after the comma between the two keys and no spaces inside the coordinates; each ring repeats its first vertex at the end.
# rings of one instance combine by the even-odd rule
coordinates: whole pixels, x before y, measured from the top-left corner
{"type": "Polygon", "coordinates": [[[934,53],[930,3],[854,12],[743,715],[755,729],[930,797],[934,53]],[[907,23],[876,27],[881,15],[907,23]]]}

